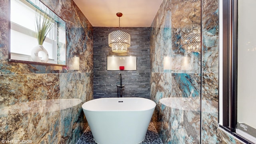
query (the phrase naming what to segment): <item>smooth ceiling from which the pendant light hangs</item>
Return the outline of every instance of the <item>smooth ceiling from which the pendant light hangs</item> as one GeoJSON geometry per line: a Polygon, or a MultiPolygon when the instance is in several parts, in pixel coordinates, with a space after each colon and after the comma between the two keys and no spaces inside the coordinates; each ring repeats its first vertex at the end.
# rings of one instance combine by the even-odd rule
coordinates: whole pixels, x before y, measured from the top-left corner
{"type": "Polygon", "coordinates": [[[162,0],[74,0],[92,26],[150,27],[162,0]]]}

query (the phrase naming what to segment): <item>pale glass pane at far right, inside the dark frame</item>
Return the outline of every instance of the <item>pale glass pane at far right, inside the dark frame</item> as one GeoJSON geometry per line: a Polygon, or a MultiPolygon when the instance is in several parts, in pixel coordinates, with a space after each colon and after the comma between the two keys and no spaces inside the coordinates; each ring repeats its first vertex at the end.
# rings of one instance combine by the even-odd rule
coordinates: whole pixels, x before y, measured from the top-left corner
{"type": "Polygon", "coordinates": [[[238,0],[238,88],[236,132],[256,142],[255,0],[238,0]]]}

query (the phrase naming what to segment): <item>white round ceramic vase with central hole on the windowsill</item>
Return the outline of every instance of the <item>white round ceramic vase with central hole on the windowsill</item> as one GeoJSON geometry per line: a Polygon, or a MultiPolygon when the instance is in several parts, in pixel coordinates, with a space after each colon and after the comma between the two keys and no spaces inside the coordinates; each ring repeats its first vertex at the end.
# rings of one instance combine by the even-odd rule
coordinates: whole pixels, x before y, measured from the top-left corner
{"type": "Polygon", "coordinates": [[[31,51],[31,58],[34,62],[48,62],[49,54],[47,50],[44,48],[44,46],[38,44],[35,46],[31,51]],[[42,58],[38,57],[38,52],[42,52],[43,56],[42,58]]]}

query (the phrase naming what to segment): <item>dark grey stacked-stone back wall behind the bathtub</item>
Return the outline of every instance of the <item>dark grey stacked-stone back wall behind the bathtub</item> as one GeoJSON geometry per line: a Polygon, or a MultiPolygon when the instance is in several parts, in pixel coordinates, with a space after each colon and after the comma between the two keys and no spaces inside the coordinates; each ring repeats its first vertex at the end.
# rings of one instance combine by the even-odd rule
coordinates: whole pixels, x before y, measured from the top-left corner
{"type": "Polygon", "coordinates": [[[94,98],[117,97],[122,74],[123,97],[150,98],[150,28],[122,28],[130,33],[131,46],[126,53],[114,53],[108,46],[108,34],[118,28],[94,27],[94,98]],[[137,70],[107,70],[108,55],[136,55],[137,70]]]}

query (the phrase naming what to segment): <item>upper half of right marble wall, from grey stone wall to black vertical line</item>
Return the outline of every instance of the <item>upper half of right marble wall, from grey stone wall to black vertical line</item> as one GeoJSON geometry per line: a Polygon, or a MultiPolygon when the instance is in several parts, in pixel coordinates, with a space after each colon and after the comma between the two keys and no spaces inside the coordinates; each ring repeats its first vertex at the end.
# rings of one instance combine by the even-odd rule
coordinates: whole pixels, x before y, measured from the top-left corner
{"type": "Polygon", "coordinates": [[[183,34],[201,31],[200,0],[164,0],[151,25],[150,41],[152,72],[200,73],[201,55],[186,54],[181,38],[183,34]],[[186,9],[184,9],[186,7],[186,9]],[[188,56],[187,56],[188,55],[188,56]],[[171,66],[164,64],[166,56],[171,66]]]}

